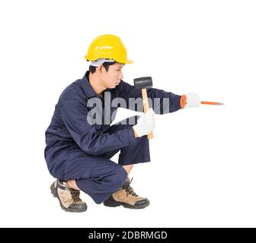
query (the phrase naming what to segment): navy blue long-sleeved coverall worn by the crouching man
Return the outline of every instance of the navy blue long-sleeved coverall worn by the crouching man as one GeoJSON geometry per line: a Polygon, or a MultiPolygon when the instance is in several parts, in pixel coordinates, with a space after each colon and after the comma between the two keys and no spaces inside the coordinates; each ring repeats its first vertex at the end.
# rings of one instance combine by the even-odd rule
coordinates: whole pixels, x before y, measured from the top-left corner
{"type": "MultiPolygon", "coordinates": [[[[59,97],[46,130],[44,156],[53,177],[62,181],[75,179],[78,188],[90,195],[96,204],[101,204],[126,181],[123,166],[150,161],[149,140],[146,136],[135,137],[133,125],[88,123],[87,115],[92,109],[87,106],[88,100],[98,98],[104,105],[104,96],[94,92],[88,74],[87,71],[82,79],[66,87],[59,97]],[[110,158],[119,151],[117,164],[110,158]]],[[[106,91],[110,92],[111,100],[122,97],[127,103],[129,98],[142,96],[141,90],[123,80],[106,91]]],[[[162,109],[164,98],[169,98],[168,112],[181,109],[181,96],[153,88],[148,88],[147,93],[149,98],[160,98],[161,109],[155,113],[165,113],[162,109]]],[[[110,112],[116,111],[117,108],[112,107],[110,112]]]]}

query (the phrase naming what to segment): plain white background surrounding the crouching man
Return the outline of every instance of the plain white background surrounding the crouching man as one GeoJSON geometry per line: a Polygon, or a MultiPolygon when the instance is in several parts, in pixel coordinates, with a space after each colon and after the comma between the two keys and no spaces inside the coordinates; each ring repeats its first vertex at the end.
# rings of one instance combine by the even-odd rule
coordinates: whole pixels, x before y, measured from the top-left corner
{"type": "Polygon", "coordinates": [[[245,0],[2,1],[0,226],[255,227],[255,12],[245,0]],[[126,82],[152,76],[156,88],[226,105],[157,115],[152,163],[131,174],[149,207],[108,208],[82,194],[88,211],[66,213],[50,194],[44,132],[104,33],[135,61],[126,82]]]}

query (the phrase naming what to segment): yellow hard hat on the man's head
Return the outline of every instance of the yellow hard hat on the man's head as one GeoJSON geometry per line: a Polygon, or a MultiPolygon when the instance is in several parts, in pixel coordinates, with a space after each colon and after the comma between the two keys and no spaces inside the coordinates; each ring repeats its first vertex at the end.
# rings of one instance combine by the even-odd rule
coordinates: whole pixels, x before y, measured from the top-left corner
{"type": "Polygon", "coordinates": [[[111,59],[123,64],[133,63],[127,58],[126,48],[121,39],[108,34],[96,37],[85,55],[88,61],[96,61],[99,58],[111,59]]]}

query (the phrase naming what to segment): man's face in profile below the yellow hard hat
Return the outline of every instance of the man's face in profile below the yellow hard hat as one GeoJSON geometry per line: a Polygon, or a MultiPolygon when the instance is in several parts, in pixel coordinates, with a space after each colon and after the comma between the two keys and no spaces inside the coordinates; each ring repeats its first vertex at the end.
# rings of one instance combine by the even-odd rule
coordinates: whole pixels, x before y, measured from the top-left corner
{"type": "Polygon", "coordinates": [[[123,79],[123,66],[123,64],[115,63],[108,67],[108,71],[102,68],[102,81],[106,88],[114,89],[120,83],[120,80],[123,79]]]}

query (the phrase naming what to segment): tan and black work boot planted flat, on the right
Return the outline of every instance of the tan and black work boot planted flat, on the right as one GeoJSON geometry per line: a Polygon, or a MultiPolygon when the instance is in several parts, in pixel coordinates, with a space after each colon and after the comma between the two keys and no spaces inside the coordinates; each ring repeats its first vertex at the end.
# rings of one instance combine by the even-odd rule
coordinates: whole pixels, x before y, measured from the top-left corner
{"type": "Polygon", "coordinates": [[[123,207],[141,209],[149,206],[149,200],[146,197],[139,197],[130,187],[130,178],[126,178],[126,182],[123,184],[120,190],[114,192],[107,200],[104,200],[104,205],[107,207],[117,207],[123,205],[123,207]]]}

